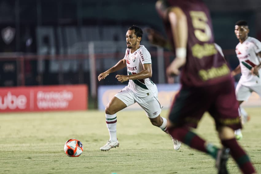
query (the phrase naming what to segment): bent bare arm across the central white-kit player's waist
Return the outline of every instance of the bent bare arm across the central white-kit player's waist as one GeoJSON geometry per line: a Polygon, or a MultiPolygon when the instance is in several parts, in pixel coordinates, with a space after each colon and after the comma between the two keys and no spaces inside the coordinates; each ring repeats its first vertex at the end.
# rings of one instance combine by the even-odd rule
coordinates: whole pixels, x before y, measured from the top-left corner
{"type": "Polygon", "coordinates": [[[152,66],[151,64],[143,64],[143,70],[137,74],[132,75],[116,75],[116,78],[120,82],[124,82],[127,80],[139,80],[139,79],[145,79],[152,76],[152,66]]]}

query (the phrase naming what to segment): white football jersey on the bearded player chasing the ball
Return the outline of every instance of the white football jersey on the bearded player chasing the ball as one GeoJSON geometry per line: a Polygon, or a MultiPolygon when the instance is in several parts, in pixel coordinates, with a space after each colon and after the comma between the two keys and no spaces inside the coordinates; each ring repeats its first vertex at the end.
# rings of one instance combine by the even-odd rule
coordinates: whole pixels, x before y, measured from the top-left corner
{"type": "MultiPolygon", "coordinates": [[[[130,49],[126,49],[124,56],[127,64],[128,75],[137,74],[143,70],[143,64],[151,64],[151,56],[144,45],[140,45],[135,52],[130,53],[130,49]]],[[[150,78],[129,80],[128,84],[132,92],[138,97],[155,96],[158,97],[157,86],[150,78]]]]}

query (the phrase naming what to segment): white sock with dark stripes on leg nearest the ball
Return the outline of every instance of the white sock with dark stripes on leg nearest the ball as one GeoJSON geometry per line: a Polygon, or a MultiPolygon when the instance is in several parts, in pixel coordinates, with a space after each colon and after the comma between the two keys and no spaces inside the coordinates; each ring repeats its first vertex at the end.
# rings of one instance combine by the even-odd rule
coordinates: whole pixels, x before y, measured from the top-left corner
{"type": "Polygon", "coordinates": [[[117,135],[116,135],[117,117],[116,117],[116,114],[113,114],[113,115],[105,114],[105,118],[106,118],[106,125],[107,125],[107,128],[109,130],[109,134],[110,134],[110,140],[115,142],[115,141],[117,141],[117,135]]]}

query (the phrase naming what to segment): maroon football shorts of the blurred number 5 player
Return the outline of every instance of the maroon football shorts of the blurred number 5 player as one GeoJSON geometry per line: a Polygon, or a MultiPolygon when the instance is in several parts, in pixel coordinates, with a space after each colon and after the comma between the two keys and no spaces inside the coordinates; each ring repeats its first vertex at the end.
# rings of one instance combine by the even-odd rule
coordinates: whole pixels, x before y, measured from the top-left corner
{"type": "Polygon", "coordinates": [[[197,128],[205,112],[209,112],[216,122],[216,129],[228,126],[241,129],[234,81],[226,80],[203,87],[181,87],[169,111],[169,120],[175,127],[197,128]]]}

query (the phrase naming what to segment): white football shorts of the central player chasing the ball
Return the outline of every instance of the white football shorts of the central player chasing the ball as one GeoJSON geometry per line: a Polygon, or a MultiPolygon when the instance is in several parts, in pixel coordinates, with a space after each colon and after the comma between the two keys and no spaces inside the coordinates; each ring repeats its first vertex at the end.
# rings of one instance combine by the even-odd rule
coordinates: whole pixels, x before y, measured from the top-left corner
{"type": "Polygon", "coordinates": [[[149,93],[148,96],[140,98],[134,95],[128,86],[125,86],[125,88],[117,93],[115,97],[123,101],[127,107],[137,102],[146,112],[146,115],[149,118],[156,118],[161,113],[161,106],[158,101],[158,93],[157,95],[152,95],[149,93]]]}

